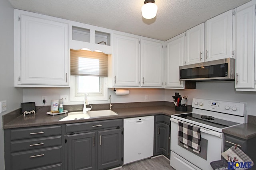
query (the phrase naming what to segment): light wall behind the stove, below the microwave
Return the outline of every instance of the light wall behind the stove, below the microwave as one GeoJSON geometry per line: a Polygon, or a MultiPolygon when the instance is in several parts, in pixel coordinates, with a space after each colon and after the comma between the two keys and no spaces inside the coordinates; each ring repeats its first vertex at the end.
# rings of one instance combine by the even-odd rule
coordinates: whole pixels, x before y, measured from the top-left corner
{"type": "Polygon", "coordinates": [[[234,87],[234,81],[196,82],[194,90],[165,90],[165,101],[173,102],[172,96],[175,92],[179,92],[182,96],[188,96],[188,105],[192,105],[193,98],[244,102],[247,114],[256,116],[256,92],[240,92],[234,87]]]}

